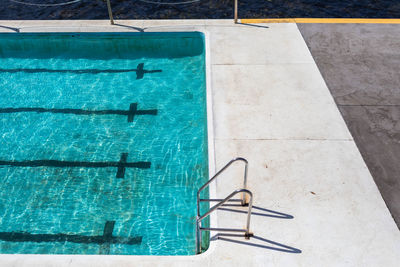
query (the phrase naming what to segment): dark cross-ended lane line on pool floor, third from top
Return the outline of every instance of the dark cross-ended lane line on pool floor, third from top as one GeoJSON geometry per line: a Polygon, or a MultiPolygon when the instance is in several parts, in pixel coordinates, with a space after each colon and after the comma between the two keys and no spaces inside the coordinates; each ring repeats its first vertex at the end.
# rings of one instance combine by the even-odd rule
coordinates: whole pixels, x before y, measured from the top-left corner
{"type": "Polygon", "coordinates": [[[118,162],[88,162],[88,161],[60,161],[60,160],[25,160],[25,161],[4,161],[0,160],[0,166],[12,167],[85,167],[85,168],[108,168],[116,167],[116,178],[124,178],[126,168],[149,169],[151,163],[147,161],[127,162],[128,153],[122,153],[118,162]]]}

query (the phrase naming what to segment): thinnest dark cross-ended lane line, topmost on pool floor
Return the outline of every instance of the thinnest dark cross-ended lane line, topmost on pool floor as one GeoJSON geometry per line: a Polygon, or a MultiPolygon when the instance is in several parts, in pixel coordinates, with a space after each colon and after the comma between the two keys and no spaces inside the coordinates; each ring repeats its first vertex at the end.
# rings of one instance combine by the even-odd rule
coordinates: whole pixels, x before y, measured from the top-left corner
{"type": "Polygon", "coordinates": [[[1,69],[0,72],[5,73],[18,73],[18,72],[25,72],[25,73],[74,73],[74,74],[99,74],[99,73],[123,73],[123,72],[136,72],[136,80],[143,79],[144,75],[147,73],[156,73],[162,72],[162,70],[145,70],[144,63],[139,63],[136,69],[82,69],[82,70],[67,70],[67,69],[1,69]]]}

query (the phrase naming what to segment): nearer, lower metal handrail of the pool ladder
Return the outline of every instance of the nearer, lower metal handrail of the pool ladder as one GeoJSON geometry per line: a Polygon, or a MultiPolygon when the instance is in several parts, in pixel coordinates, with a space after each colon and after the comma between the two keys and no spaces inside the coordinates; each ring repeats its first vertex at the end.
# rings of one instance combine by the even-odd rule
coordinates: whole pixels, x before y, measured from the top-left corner
{"type": "Polygon", "coordinates": [[[250,216],[251,216],[251,209],[253,207],[253,193],[248,190],[248,189],[238,189],[233,191],[229,196],[224,198],[221,202],[215,204],[211,209],[209,209],[205,214],[202,216],[198,215],[196,218],[196,252],[199,254],[201,252],[201,243],[202,243],[202,237],[201,237],[201,231],[228,231],[228,232],[245,232],[244,236],[248,239],[252,234],[250,233],[250,216]],[[243,194],[248,194],[250,196],[250,201],[249,201],[249,208],[247,211],[247,222],[246,222],[246,229],[230,229],[230,228],[203,228],[201,227],[201,222],[212,212],[214,212],[216,209],[218,209],[220,206],[228,202],[232,197],[234,197],[236,194],[243,193],[243,194]]]}

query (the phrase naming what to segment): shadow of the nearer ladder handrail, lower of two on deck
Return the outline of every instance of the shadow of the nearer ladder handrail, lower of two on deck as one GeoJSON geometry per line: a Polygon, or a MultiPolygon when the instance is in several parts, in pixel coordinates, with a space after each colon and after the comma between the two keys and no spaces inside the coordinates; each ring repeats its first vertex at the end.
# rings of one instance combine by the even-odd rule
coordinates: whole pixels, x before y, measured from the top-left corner
{"type": "Polygon", "coordinates": [[[279,252],[285,252],[285,253],[294,253],[294,254],[299,254],[302,253],[302,251],[298,248],[294,248],[291,246],[287,246],[260,236],[252,236],[249,241],[240,241],[240,240],[235,240],[235,239],[230,239],[226,238],[227,237],[243,237],[243,235],[240,234],[223,234],[223,233],[218,233],[214,235],[210,241],[216,241],[216,240],[222,240],[226,242],[232,242],[240,245],[246,245],[246,246],[252,246],[252,247],[258,247],[258,248],[263,248],[263,249],[269,249],[269,250],[275,250],[279,252]],[[256,239],[257,241],[261,241],[265,243],[266,245],[259,244],[259,243],[254,243],[252,242],[253,239],[256,239]],[[273,245],[273,246],[271,246],[273,245]]]}

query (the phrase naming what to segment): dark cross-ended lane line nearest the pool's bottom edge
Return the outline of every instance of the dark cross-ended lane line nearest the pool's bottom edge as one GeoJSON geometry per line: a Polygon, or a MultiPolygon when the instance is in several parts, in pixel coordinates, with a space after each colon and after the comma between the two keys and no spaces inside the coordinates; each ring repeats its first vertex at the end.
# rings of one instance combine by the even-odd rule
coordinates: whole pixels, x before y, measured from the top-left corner
{"type": "Polygon", "coordinates": [[[0,232],[0,240],[7,242],[71,242],[80,244],[99,244],[100,252],[109,254],[110,245],[123,244],[123,245],[140,245],[142,243],[142,236],[135,237],[118,237],[113,236],[115,221],[107,221],[104,226],[103,235],[85,236],[85,235],[71,235],[71,234],[31,234],[27,232],[0,232]]]}

